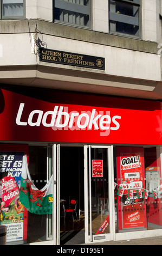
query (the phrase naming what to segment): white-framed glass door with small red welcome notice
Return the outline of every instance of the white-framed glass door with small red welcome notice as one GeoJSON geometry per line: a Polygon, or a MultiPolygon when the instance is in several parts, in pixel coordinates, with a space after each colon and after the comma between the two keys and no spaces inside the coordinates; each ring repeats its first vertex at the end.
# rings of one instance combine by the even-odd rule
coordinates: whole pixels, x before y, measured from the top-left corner
{"type": "Polygon", "coordinates": [[[113,240],[111,147],[86,145],[85,151],[85,242],[113,240]]]}

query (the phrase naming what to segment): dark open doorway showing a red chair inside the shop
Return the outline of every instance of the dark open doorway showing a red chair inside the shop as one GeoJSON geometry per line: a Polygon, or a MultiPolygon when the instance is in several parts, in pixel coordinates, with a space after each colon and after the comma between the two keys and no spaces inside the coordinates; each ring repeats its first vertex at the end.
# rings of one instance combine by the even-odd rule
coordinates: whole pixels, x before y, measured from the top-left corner
{"type": "Polygon", "coordinates": [[[61,245],[85,242],[83,157],[83,147],[60,147],[61,245]]]}

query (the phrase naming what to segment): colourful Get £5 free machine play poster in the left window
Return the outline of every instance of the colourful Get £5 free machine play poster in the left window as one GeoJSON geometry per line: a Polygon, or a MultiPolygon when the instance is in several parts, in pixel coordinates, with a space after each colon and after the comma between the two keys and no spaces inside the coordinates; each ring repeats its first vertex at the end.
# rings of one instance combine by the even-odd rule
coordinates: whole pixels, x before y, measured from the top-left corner
{"type": "Polygon", "coordinates": [[[0,224],[7,226],[7,243],[27,240],[27,210],[20,201],[24,153],[0,151],[0,224]]]}

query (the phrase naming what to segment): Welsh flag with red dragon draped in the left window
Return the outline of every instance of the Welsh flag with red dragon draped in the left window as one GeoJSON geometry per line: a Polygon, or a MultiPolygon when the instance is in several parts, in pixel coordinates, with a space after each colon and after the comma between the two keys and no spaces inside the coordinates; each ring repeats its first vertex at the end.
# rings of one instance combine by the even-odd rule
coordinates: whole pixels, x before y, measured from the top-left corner
{"type": "Polygon", "coordinates": [[[23,156],[20,201],[33,214],[52,214],[53,176],[42,190],[38,190],[31,180],[26,155],[23,156]]]}

